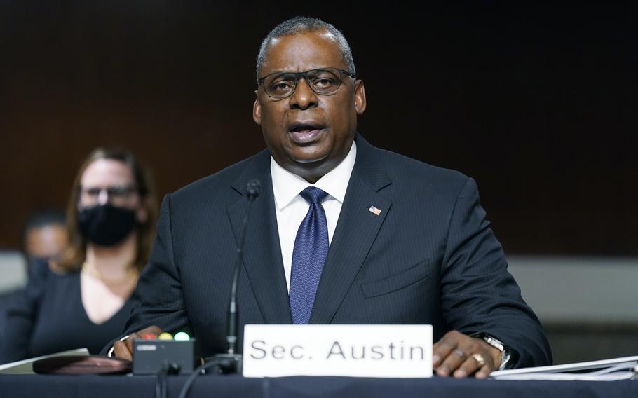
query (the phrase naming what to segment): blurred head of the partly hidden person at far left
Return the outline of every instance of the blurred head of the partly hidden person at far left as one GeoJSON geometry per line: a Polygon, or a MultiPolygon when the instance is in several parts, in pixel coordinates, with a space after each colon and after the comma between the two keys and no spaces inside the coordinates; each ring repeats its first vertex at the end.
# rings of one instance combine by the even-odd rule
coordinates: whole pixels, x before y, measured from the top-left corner
{"type": "Polygon", "coordinates": [[[22,247],[29,265],[60,259],[69,245],[65,224],[65,213],[60,210],[41,209],[29,215],[22,233],[22,247]]]}

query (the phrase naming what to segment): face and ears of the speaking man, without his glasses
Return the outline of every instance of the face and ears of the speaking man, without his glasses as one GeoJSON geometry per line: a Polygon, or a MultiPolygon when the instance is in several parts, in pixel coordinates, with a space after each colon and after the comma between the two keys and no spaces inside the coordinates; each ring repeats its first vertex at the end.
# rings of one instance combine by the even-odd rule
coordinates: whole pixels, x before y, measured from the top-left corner
{"type": "MultiPolygon", "coordinates": [[[[348,69],[337,43],[325,31],[281,36],[271,41],[259,77],[275,72],[319,68],[348,69]]],[[[290,97],[269,97],[263,85],[255,92],[253,119],[276,162],[286,170],[315,182],[344,160],[365,111],[362,81],[341,75],[335,92],[320,95],[304,78],[290,97]]]]}

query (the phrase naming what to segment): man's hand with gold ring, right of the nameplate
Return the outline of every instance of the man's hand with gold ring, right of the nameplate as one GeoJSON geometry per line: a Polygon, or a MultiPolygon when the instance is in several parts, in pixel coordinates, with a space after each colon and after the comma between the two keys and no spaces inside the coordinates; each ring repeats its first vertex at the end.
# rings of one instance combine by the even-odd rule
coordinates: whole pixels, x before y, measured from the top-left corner
{"type": "Polygon", "coordinates": [[[452,330],[433,346],[432,366],[437,376],[487,378],[501,366],[501,351],[482,338],[452,330]]]}

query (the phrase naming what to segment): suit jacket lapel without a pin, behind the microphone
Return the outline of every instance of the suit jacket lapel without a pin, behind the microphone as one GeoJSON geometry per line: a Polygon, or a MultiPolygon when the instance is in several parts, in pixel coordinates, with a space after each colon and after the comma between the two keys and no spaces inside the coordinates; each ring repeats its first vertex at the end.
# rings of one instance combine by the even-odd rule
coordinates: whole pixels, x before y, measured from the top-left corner
{"type": "Polygon", "coordinates": [[[236,179],[233,189],[241,196],[238,195],[238,200],[226,210],[236,244],[239,245],[248,203],[245,198],[246,184],[252,179],[261,182],[262,194],[254,201],[248,221],[243,250],[244,269],[264,321],[269,324],[290,324],[292,316],[281,259],[268,151],[255,156],[236,179]]]}

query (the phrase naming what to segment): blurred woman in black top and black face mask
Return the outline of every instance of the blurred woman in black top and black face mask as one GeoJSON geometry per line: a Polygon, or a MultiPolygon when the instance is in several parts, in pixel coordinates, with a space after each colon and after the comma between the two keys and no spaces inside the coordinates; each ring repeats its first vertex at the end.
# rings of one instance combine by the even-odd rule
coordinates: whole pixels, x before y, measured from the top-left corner
{"type": "Polygon", "coordinates": [[[93,151],[74,181],[67,217],[70,245],[55,272],[37,268],[8,307],[0,363],[73,348],[97,354],[124,327],[155,235],[147,173],[128,151],[93,151]]]}

